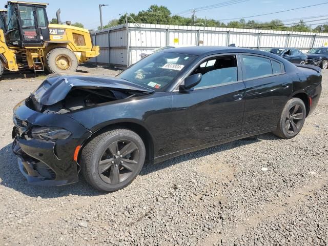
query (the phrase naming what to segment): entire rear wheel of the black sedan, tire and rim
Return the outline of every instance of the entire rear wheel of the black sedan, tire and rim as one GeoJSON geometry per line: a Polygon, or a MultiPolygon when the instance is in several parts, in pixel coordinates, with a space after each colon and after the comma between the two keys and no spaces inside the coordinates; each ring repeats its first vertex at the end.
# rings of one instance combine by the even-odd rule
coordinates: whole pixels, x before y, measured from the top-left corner
{"type": "Polygon", "coordinates": [[[306,117],[306,109],[299,98],[290,99],[282,110],[278,126],[273,133],[283,139],[295,137],[302,129],[306,117]]]}

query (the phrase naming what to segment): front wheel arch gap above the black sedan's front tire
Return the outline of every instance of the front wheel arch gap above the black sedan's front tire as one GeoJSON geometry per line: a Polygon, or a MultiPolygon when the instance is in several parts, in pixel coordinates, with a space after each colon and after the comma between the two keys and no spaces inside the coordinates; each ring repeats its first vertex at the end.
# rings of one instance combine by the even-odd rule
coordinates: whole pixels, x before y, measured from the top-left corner
{"type": "Polygon", "coordinates": [[[83,150],[83,148],[90,142],[94,137],[98,136],[101,133],[113,130],[113,129],[129,129],[136,134],[138,134],[142,141],[145,144],[146,147],[146,163],[152,163],[154,158],[154,152],[155,152],[155,146],[154,146],[154,140],[152,135],[150,134],[149,130],[140,122],[133,121],[133,120],[121,120],[116,122],[110,122],[106,125],[101,125],[99,127],[96,127],[95,131],[92,132],[92,134],[83,142],[81,145],[81,149],[79,150],[78,156],[77,156],[77,162],[79,161],[80,154],[83,150]]]}

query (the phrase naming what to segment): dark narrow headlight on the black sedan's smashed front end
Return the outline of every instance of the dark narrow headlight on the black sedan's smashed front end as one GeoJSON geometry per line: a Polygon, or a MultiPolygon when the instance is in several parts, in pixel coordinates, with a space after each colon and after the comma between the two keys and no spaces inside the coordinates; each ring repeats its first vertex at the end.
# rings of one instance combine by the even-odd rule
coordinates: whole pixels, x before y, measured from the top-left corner
{"type": "Polygon", "coordinates": [[[33,138],[42,140],[63,140],[67,139],[72,133],[63,128],[57,127],[36,127],[31,131],[33,138]]]}

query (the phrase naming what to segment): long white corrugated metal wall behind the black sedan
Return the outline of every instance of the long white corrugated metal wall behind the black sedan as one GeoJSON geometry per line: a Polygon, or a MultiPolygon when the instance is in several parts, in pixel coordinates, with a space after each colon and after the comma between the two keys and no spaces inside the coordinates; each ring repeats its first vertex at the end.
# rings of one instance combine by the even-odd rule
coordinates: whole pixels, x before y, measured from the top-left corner
{"type": "Polygon", "coordinates": [[[140,54],[162,46],[228,46],[265,49],[293,47],[303,52],[328,46],[326,33],[289,32],[257,29],[190,27],[153,24],[120,25],[93,33],[100,55],[91,62],[130,66],[140,54]],[[128,44],[127,44],[128,40],[128,44]],[[128,52],[127,52],[128,50],[128,52]]]}

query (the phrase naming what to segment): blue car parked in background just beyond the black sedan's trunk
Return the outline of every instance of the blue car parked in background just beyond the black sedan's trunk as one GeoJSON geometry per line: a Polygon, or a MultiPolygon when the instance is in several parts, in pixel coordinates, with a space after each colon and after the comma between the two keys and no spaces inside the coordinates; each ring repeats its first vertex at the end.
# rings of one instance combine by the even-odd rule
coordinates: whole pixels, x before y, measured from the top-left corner
{"type": "Polygon", "coordinates": [[[266,49],[265,51],[281,56],[282,58],[289,60],[291,63],[295,64],[306,64],[308,56],[303,54],[298,49],[293,48],[271,48],[266,49]]]}

